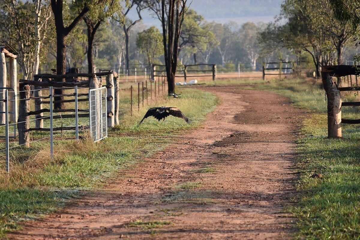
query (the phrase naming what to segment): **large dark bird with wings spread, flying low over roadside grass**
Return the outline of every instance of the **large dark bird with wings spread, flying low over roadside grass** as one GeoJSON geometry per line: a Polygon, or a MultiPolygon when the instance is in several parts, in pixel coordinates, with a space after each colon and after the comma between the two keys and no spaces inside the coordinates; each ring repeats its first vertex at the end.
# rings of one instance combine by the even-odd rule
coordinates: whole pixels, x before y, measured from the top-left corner
{"type": "Polygon", "coordinates": [[[182,118],[185,120],[186,123],[189,125],[192,125],[193,121],[185,117],[185,115],[180,111],[179,108],[173,108],[173,107],[156,107],[156,108],[150,108],[146,113],[143,119],[139,122],[138,126],[144,121],[145,118],[153,116],[154,118],[158,119],[160,121],[161,119],[164,119],[167,116],[174,116],[178,118],[182,118]]]}

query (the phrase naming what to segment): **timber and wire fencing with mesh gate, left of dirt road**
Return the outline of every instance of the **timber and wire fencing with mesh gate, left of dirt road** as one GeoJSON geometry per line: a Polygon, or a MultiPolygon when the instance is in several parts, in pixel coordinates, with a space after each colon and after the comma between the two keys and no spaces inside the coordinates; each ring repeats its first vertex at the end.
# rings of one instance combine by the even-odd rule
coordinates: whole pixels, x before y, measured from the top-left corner
{"type": "MultiPolygon", "coordinates": [[[[72,73],[66,75],[37,74],[34,80],[19,80],[19,91],[15,95],[13,88],[4,88],[2,100],[5,107],[5,123],[0,127],[4,132],[6,171],[9,172],[9,151],[21,147],[31,148],[32,142],[50,141],[50,158],[53,158],[53,142],[55,137],[70,137],[75,133],[79,139],[80,131],[89,131],[93,141],[107,136],[107,128],[120,124],[120,114],[130,112],[133,115],[134,104],[144,106],[149,100],[167,92],[166,77],[159,80],[144,80],[135,86],[121,86],[118,74],[113,71],[94,74],[72,73]],[[73,82],[60,82],[62,78],[76,78],[73,82]],[[105,77],[104,86],[102,77],[105,77]],[[86,78],[80,79],[80,78],[86,78]],[[106,84],[106,85],[105,85],[106,84]],[[33,86],[33,90],[31,90],[33,86]],[[135,93],[134,91],[136,91],[135,93]],[[55,89],[62,89],[63,94],[54,94],[55,89]],[[93,92],[97,92],[93,94],[93,92]],[[138,96],[136,96],[138,94],[138,96]],[[137,103],[133,96],[137,97],[137,103]],[[55,98],[61,97],[60,100],[55,98]],[[19,103],[18,111],[14,105],[19,103]],[[55,109],[55,103],[64,103],[64,109],[55,109]],[[15,110],[9,110],[14,108],[15,110]],[[19,113],[17,121],[12,122],[13,115],[19,113]],[[46,123],[45,123],[46,121],[46,123]],[[14,131],[9,132],[9,126],[14,131]],[[88,130],[89,129],[89,130],[88,130]],[[55,133],[58,132],[58,133],[55,133]],[[17,138],[9,142],[11,138],[17,138]],[[18,143],[15,141],[18,140],[18,143]]],[[[0,89],[1,91],[1,89],[0,89]]]]}

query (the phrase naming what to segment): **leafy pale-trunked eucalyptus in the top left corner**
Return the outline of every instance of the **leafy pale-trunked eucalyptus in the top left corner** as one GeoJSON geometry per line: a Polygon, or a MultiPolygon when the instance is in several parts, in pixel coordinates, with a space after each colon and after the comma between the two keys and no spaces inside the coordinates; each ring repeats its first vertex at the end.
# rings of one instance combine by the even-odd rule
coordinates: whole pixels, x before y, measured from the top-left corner
{"type": "Polygon", "coordinates": [[[39,68],[40,49],[52,37],[48,1],[0,0],[0,6],[0,42],[18,51],[23,78],[31,79],[39,68]]]}

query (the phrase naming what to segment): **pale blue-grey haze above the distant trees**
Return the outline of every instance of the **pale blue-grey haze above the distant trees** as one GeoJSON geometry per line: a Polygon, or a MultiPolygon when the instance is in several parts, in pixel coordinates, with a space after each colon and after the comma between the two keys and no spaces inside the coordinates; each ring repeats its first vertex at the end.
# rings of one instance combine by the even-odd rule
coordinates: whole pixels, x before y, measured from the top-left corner
{"type": "MultiPolygon", "coordinates": [[[[193,0],[190,8],[203,15],[208,22],[234,21],[242,24],[272,21],[280,13],[282,2],[283,0],[193,0]]],[[[159,27],[159,20],[153,19],[148,12],[141,15],[145,25],[159,27]]],[[[132,11],[129,17],[135,19],[136,12],[132,11]]]]}

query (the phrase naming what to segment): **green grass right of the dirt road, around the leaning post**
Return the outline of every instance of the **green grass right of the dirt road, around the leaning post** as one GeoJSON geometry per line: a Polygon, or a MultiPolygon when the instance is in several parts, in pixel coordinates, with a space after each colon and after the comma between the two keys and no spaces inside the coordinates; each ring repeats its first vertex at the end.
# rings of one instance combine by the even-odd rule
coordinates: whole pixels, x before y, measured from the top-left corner
{"type": "MultiPolygon", "coordinates": [[[[343,140],[327,139],[325,91],[314,82],[273,81],[254,89],[288,96],[311,113],[303,120],[297,145],[297,204],[289,207],[298,218],[294,238],[360,239],[360,127],[343,124],[343,140]],[[314,173],[323,177],[310,178],[314,173]]],[[[343,92],[343,101],[354,100],[353,94],[343,92]]],[[[342,113],[350,119],[360,116],[358,107],[343,107],[342,113]]]]}

